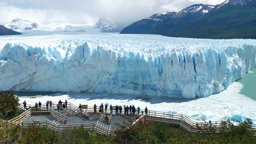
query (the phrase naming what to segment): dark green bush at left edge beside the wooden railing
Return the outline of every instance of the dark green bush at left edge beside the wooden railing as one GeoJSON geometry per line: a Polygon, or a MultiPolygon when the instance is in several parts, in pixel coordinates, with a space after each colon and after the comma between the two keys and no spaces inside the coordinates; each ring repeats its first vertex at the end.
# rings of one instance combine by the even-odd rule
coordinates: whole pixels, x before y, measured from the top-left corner
{"type": "Polygon", "coordinates": [[[18,97],[14,96],[14,93],[10,91],[0,91],[0,114],[1,117],[11,119],[14,116],[19,115],[18,112],[18,97]]]}

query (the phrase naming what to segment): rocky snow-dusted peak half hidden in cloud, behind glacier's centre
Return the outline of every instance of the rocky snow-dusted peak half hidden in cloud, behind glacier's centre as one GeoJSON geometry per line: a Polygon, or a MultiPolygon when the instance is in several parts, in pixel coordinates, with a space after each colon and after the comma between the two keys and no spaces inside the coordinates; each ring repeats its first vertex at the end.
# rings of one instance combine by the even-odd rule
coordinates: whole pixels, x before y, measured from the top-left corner
{"type": "Polygon", "coordinates": [[[100,29],[101,32],[120,32],[124,27],[124,24],[120,22],[115,22],[112,24],[106,18],[99,18],[94,28],[100,29]]]}

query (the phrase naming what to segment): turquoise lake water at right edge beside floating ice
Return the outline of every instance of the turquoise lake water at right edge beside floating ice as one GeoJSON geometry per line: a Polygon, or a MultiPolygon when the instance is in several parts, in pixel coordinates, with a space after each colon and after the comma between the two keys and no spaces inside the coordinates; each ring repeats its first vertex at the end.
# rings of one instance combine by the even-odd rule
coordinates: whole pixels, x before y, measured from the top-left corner
{"type": "Polygon", "coordinates": [[[244,76],[242,76],[242,78],[237,82],[244,85],[244,87],[240,91],[240,94],[256,100],[256,68],[244,74],[244,76]]]}

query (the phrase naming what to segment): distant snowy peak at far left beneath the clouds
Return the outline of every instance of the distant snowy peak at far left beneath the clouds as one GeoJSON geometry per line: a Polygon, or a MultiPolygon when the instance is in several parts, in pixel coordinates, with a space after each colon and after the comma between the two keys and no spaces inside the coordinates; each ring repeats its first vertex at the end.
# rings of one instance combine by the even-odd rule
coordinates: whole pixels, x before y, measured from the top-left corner
{"type": "Polygon", "coordinates": [[[4,24],[6,28],[10,28],[13,30],[20,29],[20,30],[32,30],[34,28],[39,28],[40,26],[36,22],[30,22],[28,20],[22,20],[19,18],[15,18],[11,22],[7,22],[4,24]]]}

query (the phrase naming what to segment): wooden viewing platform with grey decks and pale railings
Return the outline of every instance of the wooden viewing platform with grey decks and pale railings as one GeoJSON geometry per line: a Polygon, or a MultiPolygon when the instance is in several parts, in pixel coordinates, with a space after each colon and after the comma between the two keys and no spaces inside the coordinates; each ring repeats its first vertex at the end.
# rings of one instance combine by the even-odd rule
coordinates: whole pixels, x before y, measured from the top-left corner
{"type": "MultiPolygon", "coordinates": [[[[112,132],[118,128],[115,123],[122,124],[122,121],[124,120],[122,118],[124,110],[122,110],[122,114],[119,114],[119,112],[118,114],[111,114],[109,106],[105,114],[100,112],[95,113],[93,106],[84,105],[83,108],[80,109],[72,103],[68,103],[67,108],[59,110],[60,112],[57,112],[57,103],[53,103],[52,108],[50,108],[50,106],[46,108],[46,104],[42,104],[42,108],[37,109],[32,108],[30,105],[27,105],[27,107],[28,110],[24,110],[22,104],[20,104],[19,109],[24,111],[23,114],[12,120],[8,120],[8,122],[13,122],[22,126],[36,124],[38,126],[46,126],[47,128],[58,132],[61,132],[64,128],[78,128],[82,126],[83,128],[101,134],[113,134],[112,132]]],[[[145,111],[141,109],[138,120],[154,120],[157,122],[175,124],[183,127],[186,131],[193,133],[200,132],[198,126],[203,128],[206,124],[210,124],[209,122],[194,122],[183,114],[152,110],[148,110],[147,114],[144,114],[144,112],[145,111]]],[[[115,113],[115,107],[113,107],[113,113],[115,113]]],[[[135,116],[137,115],[130,115],[129,113],[129,116],[132,116],[134,120],[133,125],[138,124],[138,120],[135,119],[135,116]]],[[[223,121],[211,122],[211,125],[214,126],[217,133],[224,128],[223,121]]],[[[248,128],[254,130],[256,135],[255,125],[248,125],[248,128]]]]}

